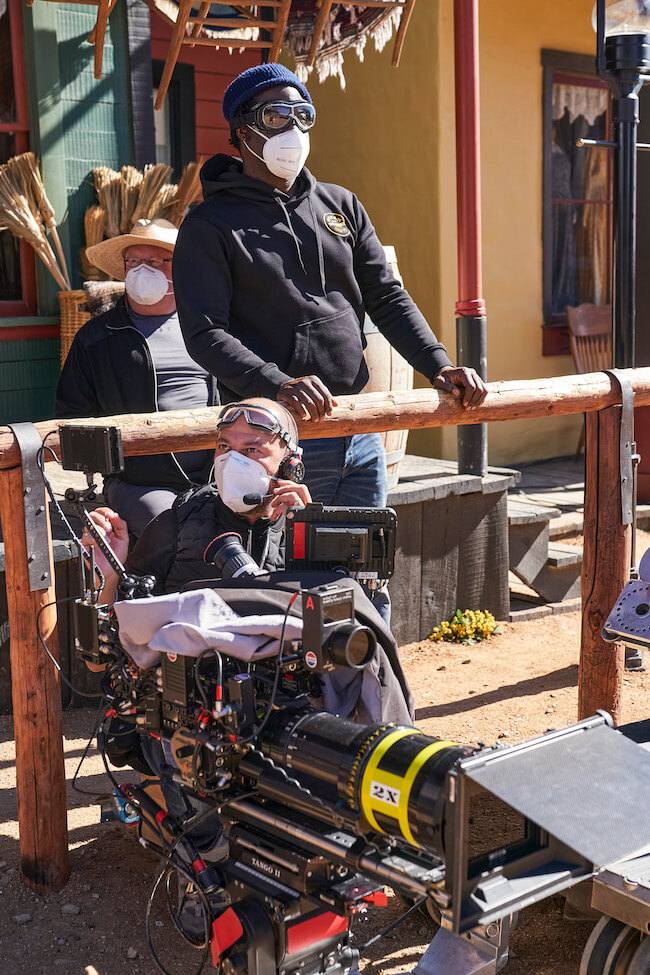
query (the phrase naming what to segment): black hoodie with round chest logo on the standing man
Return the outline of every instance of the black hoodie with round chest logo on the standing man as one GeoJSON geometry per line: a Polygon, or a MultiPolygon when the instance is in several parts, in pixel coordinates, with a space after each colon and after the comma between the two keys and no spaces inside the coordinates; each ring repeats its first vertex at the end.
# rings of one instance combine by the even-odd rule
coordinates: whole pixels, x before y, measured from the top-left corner
{"type": "Polygon", "coordinates": [[[201,181],[205,201],[174,251],[174,290],[188,351],[224,399],[275,398],[306,375],[334,395],[360,392],[365,312],[429,381],[450,364],[349,190],[303,169],[283,193],[226,155],[205,163],[201,181]]]}

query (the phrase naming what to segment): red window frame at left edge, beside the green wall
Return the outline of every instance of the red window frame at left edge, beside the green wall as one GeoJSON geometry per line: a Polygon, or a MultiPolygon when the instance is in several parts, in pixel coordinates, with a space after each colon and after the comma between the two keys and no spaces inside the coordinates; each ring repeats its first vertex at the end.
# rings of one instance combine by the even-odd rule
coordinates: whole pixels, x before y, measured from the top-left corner
{"type": "MultiPolygon", "coordinates": [[[[11,29],[11,61],[16,97],[16,119],[13,122],[0,122],[0,132],[14,136],[16,155],[29,149],[29,112],[27,102],[27,79],[25,75],[25,53],[23,48],[23,11],[21,0],[8,0],[9,25],[11,29]]],[[[20,276],[22,300],[0,301],[0,318],[20,315],[35,315],[37,310],[36,269],[34,254],[24,241],[20,242],[20,276]]]]}

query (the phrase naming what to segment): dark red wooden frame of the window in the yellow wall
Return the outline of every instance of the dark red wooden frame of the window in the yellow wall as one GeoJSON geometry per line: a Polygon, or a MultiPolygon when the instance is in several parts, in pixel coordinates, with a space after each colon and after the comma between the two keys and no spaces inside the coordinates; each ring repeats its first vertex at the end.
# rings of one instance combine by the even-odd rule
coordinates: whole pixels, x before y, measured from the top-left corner
{"type": "Polygon", "coordinates": [[[589,54],[542,50],[542,355],[570,355],[569,329],[566,316],[553,315],[552,296],[552,152],[553,81],[558,75],[582,78],[585,84],[607,88],[596,74],[595,58],[589,54]]]}

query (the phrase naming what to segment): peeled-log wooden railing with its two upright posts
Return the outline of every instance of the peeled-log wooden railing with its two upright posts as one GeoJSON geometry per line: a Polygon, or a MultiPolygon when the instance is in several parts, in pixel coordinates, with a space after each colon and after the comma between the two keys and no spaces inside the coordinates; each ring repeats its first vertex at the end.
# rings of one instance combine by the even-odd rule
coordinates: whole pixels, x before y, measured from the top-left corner
{"type": "MultiPolygon", "coordinates": [[[[650,369],[627,370],[635,404],[650,404],[650,369]]],[[[555,379],[490,383],[482,406],[465,410],[432,389],[339,397],[331,417],[301,425],[301,437],[345,436],[382,430],[459,426],[467,423],[587,414],[582,635],[579,715],[604,708],[616,720],[623,688],[622,645],[600,633],[629,570],[631,528],[621,522],[618,385],[605,373],[555,379]]],[[[166,453],[214,445],[218,408],[102,417],[120,426],[124,453],[166,453]]],[[[67,421],[88,422],[88,421],[67,421]]],[[[58,421],[36,424],[48,446],[58,448],[58,421]]],[[[45,460],[49,461],[48,454],[45,460]]],[[[0,427],[0,521],[5,542],[12,696],[16,737],[18,821],[23,879],[37,890],[58,890],[67,881],[65,774],[61,694],[57,672],[39,645],[39,626],[58,656],[53,586],[31,593],[23,519],[20,451],[13,432],[0,427]]],[[[48,526],[49,532],[49,526],[48,526]]],[[[52,553],[50,540],[50,578],[52,553]]]]}

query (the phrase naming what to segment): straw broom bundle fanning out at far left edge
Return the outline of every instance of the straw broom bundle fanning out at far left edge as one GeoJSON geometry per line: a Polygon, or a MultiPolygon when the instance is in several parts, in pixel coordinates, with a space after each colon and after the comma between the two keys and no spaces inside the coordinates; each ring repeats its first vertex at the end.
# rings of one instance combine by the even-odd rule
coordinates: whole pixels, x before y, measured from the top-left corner
{"type": "Polygon", "coordinates": [[[38,164],[23,152],[0,166],[0,229],[26,241],[63,291],[70,290],[68,268],[38,164]],[[47,238],[49,230],[54,248],[47,238]]]}

